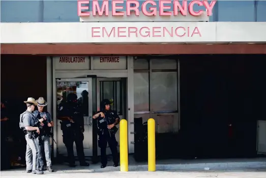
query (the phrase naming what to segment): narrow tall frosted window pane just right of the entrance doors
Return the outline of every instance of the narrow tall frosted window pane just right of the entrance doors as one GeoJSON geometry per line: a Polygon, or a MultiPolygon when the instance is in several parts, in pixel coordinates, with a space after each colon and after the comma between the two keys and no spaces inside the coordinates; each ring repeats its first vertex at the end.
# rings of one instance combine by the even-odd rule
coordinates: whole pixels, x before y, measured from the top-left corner
{"type": "Polygon", "coordinates": [[[149,73],[134,73],[134,111],[149,111],[149,73]]]}

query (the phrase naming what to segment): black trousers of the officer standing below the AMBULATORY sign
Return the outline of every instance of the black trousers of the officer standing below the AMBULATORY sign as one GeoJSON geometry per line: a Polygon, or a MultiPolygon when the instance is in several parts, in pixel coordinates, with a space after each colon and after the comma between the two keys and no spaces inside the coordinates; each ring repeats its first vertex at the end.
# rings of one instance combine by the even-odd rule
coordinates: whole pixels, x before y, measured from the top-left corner
{"type": "Polygon", "coordinates": [[[75,164],[73,144],[76,144],[77,156],[80,164],[85,162],[83,150],[84,135],[79,130],[63,130],[63,142],[65,143],[68,151],[69,164],[75,164]]]}

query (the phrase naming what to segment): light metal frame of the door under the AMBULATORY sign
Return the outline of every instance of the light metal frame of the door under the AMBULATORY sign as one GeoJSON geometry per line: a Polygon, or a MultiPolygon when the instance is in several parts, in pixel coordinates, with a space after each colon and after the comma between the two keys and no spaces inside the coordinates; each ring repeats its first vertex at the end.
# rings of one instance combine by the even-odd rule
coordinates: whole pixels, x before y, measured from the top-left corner
{"type": "MultiPolygon", "coordinates": [[[[84,148],[84,154],[87,153],[90,156],[93,156],[93,126],[94,126],[94,122],[93,122],[93,99],[95,98],[93,96],[93,79],[92,78],[68,78],[68,79],[55,79],[55,92],[54,92],[54,110],[53,110],[53,115],[56,116],[57,115],[57,101],[56,101],[56,95],[57,95],[57,82],[88,82],[88,116],[87,119],[84,119],[84,125],[86,123],[86,125],[88,126],[88,134],[86,134],[84,132],[84,140],[88,139],[88,143],[89,143],[89,148],[84,148]],[[86,122],[85,122],[86,121],[86,122]],[[85,150],[87,149],[87,150],[85,150]]],[[[85,117],[85,116],[84,116],[85,117]]],[[[56,123],[57,123],[57,118],[56,118],[56,123]]],[[[62,146],[62,145],[58,145],[58,140],[59,137],[62,137],[62,135],[58,134],[58,130],[60,129],[60,124],[56,124],[55,125],[55,129],[56,129],[56,140],[57,140],[57,144],[56,144],[56,150],[58,149],[58,146],[62,146]]],[[[62,138],[63,139],[63,138],[62,138]]],[[[65,146],[65,145],[64,145],[65,146]]],[[[84,146],[84,145],[83,145],[84,146]]],[[[75,149],[75,148],[74,148],[75,149]]],[[[86,154],[85,154],[86,155],[86,154]]]]}

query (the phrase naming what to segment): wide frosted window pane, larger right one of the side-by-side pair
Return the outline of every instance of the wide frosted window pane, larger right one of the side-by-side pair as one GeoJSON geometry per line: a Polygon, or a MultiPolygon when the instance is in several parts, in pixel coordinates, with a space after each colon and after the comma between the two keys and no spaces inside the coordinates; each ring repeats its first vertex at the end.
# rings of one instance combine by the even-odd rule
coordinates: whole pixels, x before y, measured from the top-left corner
{"type": "Polygon", "coordinates": [[[152,72],[151,111],[178,110],[177,72],[152,72]]]}

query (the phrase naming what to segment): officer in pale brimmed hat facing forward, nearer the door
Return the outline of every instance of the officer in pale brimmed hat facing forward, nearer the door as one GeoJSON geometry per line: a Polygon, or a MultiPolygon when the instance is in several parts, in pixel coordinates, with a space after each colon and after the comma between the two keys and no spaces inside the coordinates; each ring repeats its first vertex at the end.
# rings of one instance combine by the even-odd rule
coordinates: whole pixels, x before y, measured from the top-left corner
{"type": "MultiPolygon", "coordinates": [[[[46,159],[46,169],[49,172],[53,172],[52,169],[52,162],[51,162],[51,151],[52,151],[52,143],[50,143],[50,137],[52,137],[51,127],[53,126],[52,117],[49,112],[44,111],[44,107],[47,106],[47,102],[43,97],[39,97],[36,100],[38,110],[34,111],[34,115],[36,118],[41,119],[43,118],[44,121],[41,122],[42,125],[42,132],[40,135],[40,146],[41,146],[41,156],[43,155],[42,151],[45,153],[46,159]]],[[[40,158],[40,170],[43,171],[44,169],[44,162],[43,159],[40,158]]]]}

